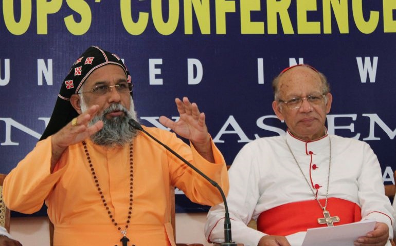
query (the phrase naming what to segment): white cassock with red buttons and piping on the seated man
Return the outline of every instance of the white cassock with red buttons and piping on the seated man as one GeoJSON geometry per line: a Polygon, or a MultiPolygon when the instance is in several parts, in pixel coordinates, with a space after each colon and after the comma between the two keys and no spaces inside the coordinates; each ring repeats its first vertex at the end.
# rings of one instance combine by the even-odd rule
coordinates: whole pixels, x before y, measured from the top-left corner
{"type": "MultiPolygon", "coordinates": [[[[227,203],[233,241],[256,246],[266,234],[248,228],[246,224],[250,219],[256,220],[263,211],[282,204],[314,199],[301,170],[311,186],[319,187],[318,199],[326,198],[329,138],[331,169],[328,197],[356,203],[362,209],[362,220],[374,219],[386,223],[390,238],[393,237],[393,208],[384,194],[381,167],[370,146],[363,141],[327,134],[318,140],[306,142],[287,131],[283,136],[249,142],[232,163],[227,203]],[[310,151],[313,154],[309,154],[310,151]],[[313,164],[315,169],[312,168],[313,164]]],[[[316,193],[316,189],[313,191],[316,193]]],[[[331,215],[336,216],[334,213],[331,215]]],[[[205,225],[205,235],[209,241],[224,240],[223,218],[223,204],[210,209],[205,225]]],[[[286,238],[297,246],[302,244],[304,236],[305,230],[286,235],[286,238]]]]}

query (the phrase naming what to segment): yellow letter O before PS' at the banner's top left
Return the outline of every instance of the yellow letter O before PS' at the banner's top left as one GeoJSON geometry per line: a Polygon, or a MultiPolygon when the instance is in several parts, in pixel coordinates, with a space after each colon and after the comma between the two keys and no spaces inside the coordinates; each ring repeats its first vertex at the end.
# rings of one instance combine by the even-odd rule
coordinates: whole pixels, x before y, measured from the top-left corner
{"type": "Polygon", "coordinates": [[[22,35],[30,26],[31,1],[21,1],[21,19],[19,22],[16,22],[14,16],[14,1],[3,1],[3,15],[8,31],[14,35],[22,35]]]}

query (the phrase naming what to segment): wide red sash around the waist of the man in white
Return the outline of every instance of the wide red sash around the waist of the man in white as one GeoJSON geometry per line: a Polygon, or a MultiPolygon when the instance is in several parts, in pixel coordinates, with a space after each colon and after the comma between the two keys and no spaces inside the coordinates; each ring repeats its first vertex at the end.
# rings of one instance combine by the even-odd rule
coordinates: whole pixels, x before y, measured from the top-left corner
{"type": "MultiPolygon", "coordinates": [[[[324,205],[326,200],[319,201],[324,205]]],[[[340,198],[329,198],[327,211],[340,219],[334,226],[362,219],[361,208],[356,203],[340,198]]],[[[318,223],[318,218],[324,217],[316,200],[292,202],[262,212],[257,219],[257,230],[268,235],[286,236],[310,228],[327,227],[327,224],[318,223]]]]}

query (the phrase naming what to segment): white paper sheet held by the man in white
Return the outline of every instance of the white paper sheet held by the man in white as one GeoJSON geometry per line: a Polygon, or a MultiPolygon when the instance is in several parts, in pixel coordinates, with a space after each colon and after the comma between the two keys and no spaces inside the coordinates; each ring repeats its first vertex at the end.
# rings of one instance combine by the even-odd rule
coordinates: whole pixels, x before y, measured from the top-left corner
{"type": "Polygon", "coordinates": [[[351,246],[361,236],[372,231],[374,220],[363,220],[334,227],[308,229],[301,246],[351,246]]]}

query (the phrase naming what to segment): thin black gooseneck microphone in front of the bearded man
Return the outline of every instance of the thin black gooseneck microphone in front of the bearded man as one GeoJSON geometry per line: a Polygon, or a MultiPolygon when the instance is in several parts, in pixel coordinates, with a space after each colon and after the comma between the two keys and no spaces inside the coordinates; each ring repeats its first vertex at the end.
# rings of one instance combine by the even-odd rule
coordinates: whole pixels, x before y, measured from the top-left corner
{"type": "Polygon", "coordinates": [[[141,127],[141,125],[139,124],[139,122],[137,122],[134,119],[130,119],[128,121],[128,124],[135,128],[136,130],[139,130],[143,133],[145,133],[146,135],[148,135],[149,137],[151,137],[154,141],[158,142],[159,145],[163,146],[165,149],[167,149],[169,152],[171,152],[174,156],[176,156],[177,158],[179,158],[180,160],[182,160],[184,163],[186,163],[187,166],[189,166],[191,169],[193,169],[195,172],[197,172],[198,174],[200,174],[202,177],[204,177],[206,180],[208,180],[212,186],[214,186],[215,188],[217,188],[223,198],[223,202],[224,202],[224,209],[225,209],[225,219],[224,219],[224,242],[222,242],[220,245],[224,245],[224,246],[237,246],[237,243],[232,242],[232,236],[231,236],[231,220],[229,218],[229,213],[228,213],[228,206],[227,206],[227,200],[225,198],[223,189],[221,189],[221,187],[218,185],[217,182],[215,182],[214,180],[212,180],[211,178],[209,178],[208,176],[206,176],[203,172],[201,172],[199,169],[197,169],[196,167],[194,167],[190,162],[188,162],[186,159],[184,159],[182,156],[180,156],[179,154],[177,154],[174,150],[172,150],[171,148],[169,148],[167,145],[165,145],[163,142],[159,141],[157,138],[155,138],[153,135],[151,135],[150,133],[148,133],[145,129],[143,129],[141,127]]]}

